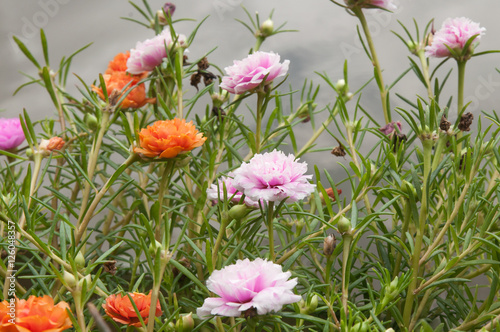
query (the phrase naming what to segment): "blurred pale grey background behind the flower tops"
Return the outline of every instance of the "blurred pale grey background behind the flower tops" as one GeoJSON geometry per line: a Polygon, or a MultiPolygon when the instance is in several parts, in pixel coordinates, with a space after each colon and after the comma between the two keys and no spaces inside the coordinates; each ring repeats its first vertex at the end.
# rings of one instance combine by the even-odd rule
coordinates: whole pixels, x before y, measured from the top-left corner
{"type": "MultiPolygon", "coordinates": [[[[143,7],[140,0],[135,2],[143,7]]],[[[149,3],[153,10],[157,10],[164,1],[150,0],[149,3]]],[[[372,75],[371,63],[357,38],[357,19],[328,0],[178,0],[174,3],[177,5],[175,19],[192,18],[199,22],[209,16],[189,48],[189,56],[195,59],[218,46],[209,60],[221,68],[231,65],[234,59],[244,58],[254,45],[253,36],[235,21],[238,18],[248,22],[241,5],[251,13],[258,11],[261,21],[275,9],[275,26],[286,21],[285,28],[299,31],[273,36],[263,44],[261,50],[272,50],[279,53],[282,59],[290,60],[287,83],[292,84],[294,89],[300,89],[306,78],[322,83],[320,106],[333,102],[335,96],[315,71],[326,73],[335,82],[342,78],[343,63],[347,60],[351,91],[357,90],[372,75]]],[[[500,49],[498,0],[399,0],[396,3],[398,10],[393,14],[379,10],[366,11],[386,84],[390,84],[408,68],[407,57],[411,56],[391,32],[394,30],[404,34],[398,20],[414,33],[413,19],[416,19],[423,30],[432,18],[435,18],[436,29],[439,29],[446,18],[465,16],[487,29],[477,51],[500,49]]],[[[43,28],[49,42],[51,63],[54,65],[58,64],[62,56],[93,42],[90,48],[74,59],[71,70],[89,85],[106,69],[108,62],[118,52],[133,48],[137,41],[153,36],[152,30],[120,19],[142,19],[124,0],[2,0],[0,13],[0,117],[17,117],[23,108],[26,108],[34,120],[55,114],[48,94],[40,86],[28,86],[13,96],[16,88],[27,82],[27,78],[20,72],[37,75],[35,67],[14,44],[13,35],[21,39],[42,63],[39,29],[43,28]]],[[[189,35],[196,24],[181,22],[176,25],[176,30],[189,35]]],[[[418,60],[416,57],[414,59],[418,60]]],[[[438,63],[439,60],[432,59],[431,67],[438,63]]],[[[474,114],[479,114],[481,110],[490,111],[499,104],[500,74],[495,71],[496,67],[500,68],[500,54],[473,58],[467,64],[465,96],[466,102],[472,102],[469,109],[474,114]]],[[[440,74],[444,75],[450,68],[453,68],[453,73],[448,83],[448,95],[454,94],[456,90],[455,63],[448,61],[440,69],[440,74]]],[[[79,82],[75,77],[69,78],[67,89],[75,96],[79,96],[75,88],[77,84],[79,82]]],[[[286,85],[282,87],[282,90],[287,89],[286,85]]],[[[193,88],[190,90],[193,91],[193,88]]],[[[416,100],[415,94],[426,95],[412,73],[399,83],[394,92],[413,101],[416,100]]],[[[295,106],[298,105],[299,97],[295,97],[295,106]]],[[[373,82],[363,92],[362,105],[375,118],[383,119],[378,90],[373,82]]],[[[408,108],[392,94],[392,108],[394,107],[408,108]]],[[[394,117],[397,118],[397,115],[394,117]]],[[[310,134],[305,133],[310,133],[309,128],[305,126],[300,131],[308,137],[310,134]]],[[[320,145],[335,145],[328,135],[325,137],[325,140],[320,140],[320,145]]],[[[320,164],[332,162],[334,161],[331,159],[319,161],[320,164]]]]}

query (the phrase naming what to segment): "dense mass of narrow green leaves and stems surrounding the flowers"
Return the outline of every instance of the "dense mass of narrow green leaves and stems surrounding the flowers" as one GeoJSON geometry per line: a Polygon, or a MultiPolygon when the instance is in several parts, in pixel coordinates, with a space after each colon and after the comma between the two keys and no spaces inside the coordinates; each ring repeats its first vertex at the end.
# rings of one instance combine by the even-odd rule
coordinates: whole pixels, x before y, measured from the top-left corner
{"type": "MultiPolygon", "coordinates": [[[[131,5],[146,22],[126,19],[161,30],[147,1],[144,8],[131,5]]],[[[250,23],[241,23],[256,36],[253,51],[266,38],[289,31],[282,24],[270,35],[256,34],[259,17],[246,13],[250,23]]],[[[353,14],[363,23],[360,9],[353,14]]],[[[167,21],[175,37],[177,21],[167,21]]],[[[196,47],[202,23],[193,25],[190,48],[196,47]]],[[[318,98],[324,83],[311,80],[298,90],[283,92],[282,82],[274,82],[207,103],[206,97],[220,98],[220,82],[186,93],[202,59],[188,63],[174,50],[141,81],[156,102],[122,109],[130,86],[113,101],[102,75],[92,83],[100,84],[104,100],[78,76],[82,96],[65,92],[74,57],[89,45],[52,68],[43,30],[45,66],[14,38],[39,76],[20,88],[37,83],[46,89],[59,127],[53,119],[32,122],[24,111],[28,148],[0,151],[0,234],[6,252],[10,221],[16,233],[14,266],[10,254],[3,258],[0,280],[7,286],[9,271],[16,270],[19,298],[46,294],[68,302],[75,331],[127,329],[109,318],[102,321],[104,311],[91,312],[87,304],[99,308],[110,294],[150,291],[163,313],[149,323],[140,318],[144,331],[182,330],[179,322],[188,313],[193,331],[500,330],[500,117],[492,111],[474,119],[470,133],[459,130],[460,117],[443,129],[451,97],[444,104],[441,94],[453,78],[450,72],[439,76],[442,63],[431,70],[423,57],[430,23],[421,35],[415,21],[416,37],[400,24],[411,41],[406,47],[417,56],[409,58],[408,69],[384,85],[373,41],[358,28],[374,76],[351,93],[347,61],[336,83],[318,73],[331,96],[326,104],[318,98]],[[398,95],[407,106],[391,110],[389,92],[411,72],[429,96],[398,95]],[[369,84],[381,92],[380,110],[363,105],[361,92],[369,84]],[[394,125],[386,134],[377,119],[385,115],[388,122],[391,113],[403,127],[394,125]],[[166,160],[134,152],[141,128],[176,117],[192,120],[205,144],[166,160]],[[64,147],[46,153],[40,141],[53,136],[64,138],[64,147]],[[333,144],[317,145],[320,136],[333,144]],[[335,156],[328,153],[332,148],[335,156]],[[331,158],[337,165],[309,168],[316,189],[301,202],[263,203],[242,212],[231,210],[237,203],[225,187],[218,202],[207,198],[207,189],[222,175],[274,149],[331,158]],[[327,255],[322,246],[329,234],[338,245],[327,255]],[[213,296],[206,280],[214,270],[258,257],[290,271],[303,301],[257,317],[195,315],[213,296]]],[[[133,310],[139,312],[135,303],[133,310]]]]}

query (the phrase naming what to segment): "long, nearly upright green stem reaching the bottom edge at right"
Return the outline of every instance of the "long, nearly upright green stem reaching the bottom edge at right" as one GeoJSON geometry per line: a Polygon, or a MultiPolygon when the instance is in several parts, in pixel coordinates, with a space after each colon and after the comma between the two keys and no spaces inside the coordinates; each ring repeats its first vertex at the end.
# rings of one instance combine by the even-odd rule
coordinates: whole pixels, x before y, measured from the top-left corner
{"type": "MultiPolygon", "coordinates": [[[[427,221],[427,180],[429,178],[429,174],[431,172],[431,159],[432,159],[432,145],[433,141],[430,139],[424,139],[422,141],[422,145],[424,148],[424,174],[423,174],[423,184],[422,184],[422,204],[420,206],[420,216],[418,220],[418,228],[417,235],[415,238],[415,246],[413,249],[412,256],[412,276],[410,285],[408,287],[408,293],[405,301],[405,308],[403,312],[403,322],[404,326],[410,326],[411,313],[413,309],[413,302],[415,298],[415,289],[417,288],[417,282],[419,277],[420,270],[420,254],[422,251],[422,244],[425,232],[425,224],[427,221]]],[[[411,332],[411,330],[409,330],[411,332]]]]}

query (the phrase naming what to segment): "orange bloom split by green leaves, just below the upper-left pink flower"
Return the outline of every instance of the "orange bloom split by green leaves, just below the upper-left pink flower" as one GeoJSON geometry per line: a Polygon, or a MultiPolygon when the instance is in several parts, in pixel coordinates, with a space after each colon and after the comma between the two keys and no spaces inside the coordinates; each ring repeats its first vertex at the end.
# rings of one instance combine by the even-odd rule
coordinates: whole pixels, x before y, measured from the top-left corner
{"type": "MultiPolygon", "coordinates": [[[[104,84],[106,84],[106,90],[108,92],[108,96],[111,96],[113,90],[121,91],[125,85],[127,85],[130,81],[130,84],[124,92],[130,91],[130,93],[125,97],[125,99],[121,103],[122,108],[139,108],[147,103],[154,103],[156,98],[146,98],[146,88],[144,83],[137,84],[139,82],[139,78],[130,76],[125,72],[114,72],[112,74],[104,74],[104,84]]],[[[92,90],[94,90],[102,100],[104,100],[104,93],[101,88],[96,86],[92,86],[92,90]]]]}

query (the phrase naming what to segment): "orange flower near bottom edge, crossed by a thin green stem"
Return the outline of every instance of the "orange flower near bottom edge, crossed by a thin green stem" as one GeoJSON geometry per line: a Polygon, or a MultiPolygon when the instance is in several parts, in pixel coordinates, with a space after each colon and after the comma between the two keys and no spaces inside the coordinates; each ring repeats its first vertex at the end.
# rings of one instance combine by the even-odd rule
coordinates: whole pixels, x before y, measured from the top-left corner
{"type": "MultiPolygon", "coordinates": [[[[151,292],[148,295],[143,293],[128,293],[139,311],[144,324],[148,323],[149,319],[149,308],[151,306],[151,292]]],[[[106,303],[102,305],[106,314],[113,318],[114,321],[122,324],[127,324],[130,326],[141,326],[141,321],[139,320],[132,302],[127,295],[113,294],[108,296],[106,303]]],[[[162,314],[160,301],[156,303],[156,313],[155,316],[160,316],[162,314]]]]}

